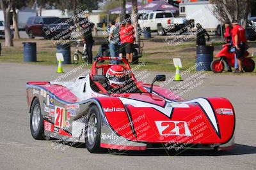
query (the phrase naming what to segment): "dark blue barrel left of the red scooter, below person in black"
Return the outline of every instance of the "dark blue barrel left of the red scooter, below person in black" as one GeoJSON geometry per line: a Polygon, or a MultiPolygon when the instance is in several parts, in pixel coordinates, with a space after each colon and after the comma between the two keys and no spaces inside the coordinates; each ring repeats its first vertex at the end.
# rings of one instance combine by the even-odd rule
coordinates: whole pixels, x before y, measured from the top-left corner
{"type": "Polygon", "coordinates": [[[214,46],[196,46],[196,71],[211,71],[214,46]]]}

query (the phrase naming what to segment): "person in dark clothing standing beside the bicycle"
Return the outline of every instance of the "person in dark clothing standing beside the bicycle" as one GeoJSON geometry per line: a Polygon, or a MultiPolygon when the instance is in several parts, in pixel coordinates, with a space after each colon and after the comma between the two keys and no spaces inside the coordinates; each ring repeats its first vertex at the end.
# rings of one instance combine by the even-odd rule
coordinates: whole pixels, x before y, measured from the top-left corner
{"type": "Polygon", "coordinates": [[[91,22],[86,22],[82,25],[83,27],[83,43],[86,44],[86,52],[88,55],[88,62],[89,64],[92,64],[92,46],[94,43],[93,37],[92,37],[92,28],[93,24],[91,22]]]}

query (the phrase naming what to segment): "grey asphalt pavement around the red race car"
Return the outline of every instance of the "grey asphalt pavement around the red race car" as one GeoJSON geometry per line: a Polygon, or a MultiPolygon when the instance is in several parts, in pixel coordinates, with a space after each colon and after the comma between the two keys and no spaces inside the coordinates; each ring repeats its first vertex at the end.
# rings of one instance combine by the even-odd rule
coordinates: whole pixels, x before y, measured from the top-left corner
{"type": "MultiPolygon", "coordinates": [[[[67,73],[71,67],[65,67],[67,73]]],[[[165,86],[184,92],[188,99],[205,96],[227,97],[236,111],[236,146],[227,152],[205,150],[148,150],[145,152],[89,153],[84,145],[54,149],[54,141],[36,141],[29,130],[26,103],[27,81],[51,81],[57,67],[0,63],[0,169],[255,169],[256,168],[256,78],[246,75],[196,75],[195,89],[179,82],[165,86]],[[202,83],[199,83],[201,82],[202,83]]],[[[68,76],[83,73],[79,70],[68,76]]],[[[140,74],[140,72],[136,72],[140,74]]],[[[144,75],[146,73],[143,73],[144,75]]],[[[155,72],[148,72],[147,82],[155,72]]],[[[169,80],[174,73],[165,73],[169,80]]],[[[182,78],[193,76],[187,74],[182,78]]],[[[140,78],[143,76],[140,76],[140,78]]],[[[190,81],[190,80],[188,80],[190,81]]]]}

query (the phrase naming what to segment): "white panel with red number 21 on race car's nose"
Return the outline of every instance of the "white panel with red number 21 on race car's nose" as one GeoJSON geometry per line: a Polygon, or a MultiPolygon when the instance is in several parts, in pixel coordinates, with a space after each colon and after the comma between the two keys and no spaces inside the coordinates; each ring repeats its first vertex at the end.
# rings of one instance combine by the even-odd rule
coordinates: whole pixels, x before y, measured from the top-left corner
{"type": "Polygon", "coordinates": [[[191,136],[188,124],[184,121],[155,121],[161,136],[191,136]]]}

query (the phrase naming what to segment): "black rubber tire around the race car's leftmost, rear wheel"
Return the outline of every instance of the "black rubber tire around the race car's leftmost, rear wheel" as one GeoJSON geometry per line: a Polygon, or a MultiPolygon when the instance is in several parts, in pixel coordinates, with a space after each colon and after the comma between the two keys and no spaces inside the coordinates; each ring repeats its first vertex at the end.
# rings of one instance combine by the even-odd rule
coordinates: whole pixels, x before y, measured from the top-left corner
{"type": "Polygon", "coordinates": [[[41,107],[40,107],[40,103],[38,98],[35,98],[32,105],[31,105],[31,113],[30,113],[30,131],[31,131],[31,135],[33,136],[34,139],[37,140],[43,140],[45,139],[44,136],[44,118],[43,115],[41,113],[41,107]],[[35,116],[33,117],[33,115],[36,115],[36,109],[39,109],[39,115],[40,120],[38,121],[38,128],[34,129],[33,128],[33,118],[35,119],[35,116]]]}

